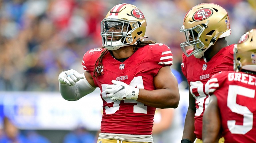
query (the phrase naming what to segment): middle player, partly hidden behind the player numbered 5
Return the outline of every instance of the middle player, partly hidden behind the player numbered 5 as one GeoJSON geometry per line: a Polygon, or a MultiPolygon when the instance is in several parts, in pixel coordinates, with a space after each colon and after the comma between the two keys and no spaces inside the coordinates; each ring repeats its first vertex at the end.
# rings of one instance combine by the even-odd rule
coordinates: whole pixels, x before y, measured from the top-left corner
{"type": "Polygon", "coordinates": [[[225,40],[231,34],[228,13],[213,3],[198,4],[185,15],[180,32],[187,39],[180,46],[184,52],[182,72],[189,84],[182,143],[192,143],[195,139],[196,143],[202,143],[202,118],[209,103],[205,84],[215,73],[233,70],[235,44],[227,45],[225,40]]]}

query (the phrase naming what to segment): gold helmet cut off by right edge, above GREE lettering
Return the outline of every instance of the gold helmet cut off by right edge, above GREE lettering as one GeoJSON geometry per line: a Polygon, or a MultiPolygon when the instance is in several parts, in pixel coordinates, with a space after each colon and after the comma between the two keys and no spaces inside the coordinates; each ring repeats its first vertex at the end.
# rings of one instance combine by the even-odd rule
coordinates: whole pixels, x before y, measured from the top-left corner
{"type": "Polygon", "coordinates": [[[234,71],[256,72],[256,29],[241,36],[234,48],[234,71]]]}

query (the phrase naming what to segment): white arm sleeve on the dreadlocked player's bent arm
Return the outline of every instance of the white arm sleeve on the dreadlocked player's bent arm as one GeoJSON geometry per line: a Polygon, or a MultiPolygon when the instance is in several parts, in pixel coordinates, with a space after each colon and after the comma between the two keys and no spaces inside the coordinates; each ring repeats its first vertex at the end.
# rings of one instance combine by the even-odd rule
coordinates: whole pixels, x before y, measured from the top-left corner
{"type": "Polygon", "coordinates": [[[92,87],[86,78],[79,80],[74,86],[59,83],[59,89],[64,99],[75,101],[91,93],[96,88],[92,87]]]}

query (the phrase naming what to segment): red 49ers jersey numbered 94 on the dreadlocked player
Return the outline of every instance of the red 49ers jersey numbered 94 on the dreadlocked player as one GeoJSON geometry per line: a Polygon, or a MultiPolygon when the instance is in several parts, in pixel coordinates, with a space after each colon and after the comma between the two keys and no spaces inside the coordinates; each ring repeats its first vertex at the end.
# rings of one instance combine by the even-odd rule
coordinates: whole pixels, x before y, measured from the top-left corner
{"type": "MultiPolygon", "coordinates": [[[[93,75],[95,62],[105,49],[92,49],[83,56],[84,70],[93,75]]],[[[151,135],[156,108],[147,106],[136,100],[112,101],[107,97],[106,85],[112,80],[122,81],[130,86],[154,90],[154,77],[160,68],[171,66],[173,54],[164,44],[149,44],[139,48],[124,62],[113,58],[108,52],[104,55],[102,75],[94,79],[101,90],[103,115],[101,132],[136,135],[151,135]]]]}

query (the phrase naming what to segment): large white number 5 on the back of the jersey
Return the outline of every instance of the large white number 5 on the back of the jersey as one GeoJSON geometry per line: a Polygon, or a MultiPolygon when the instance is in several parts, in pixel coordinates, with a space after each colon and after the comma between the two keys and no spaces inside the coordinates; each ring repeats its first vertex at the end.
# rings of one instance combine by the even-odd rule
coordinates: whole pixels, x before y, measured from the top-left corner
{"type": "Polygon", "coordinates": [[[249,98],[255,97],[255,90],[241,86],[229,85],[227,96],[227,107],[234,113],[244,116],[243,125],[236,125],[235,120],[227,121],[228,129],[233,134],[246,134],[252,129],[253,113],[246,107],[236,103],[237,94],[249,98]]]}

